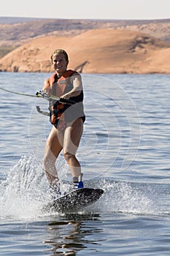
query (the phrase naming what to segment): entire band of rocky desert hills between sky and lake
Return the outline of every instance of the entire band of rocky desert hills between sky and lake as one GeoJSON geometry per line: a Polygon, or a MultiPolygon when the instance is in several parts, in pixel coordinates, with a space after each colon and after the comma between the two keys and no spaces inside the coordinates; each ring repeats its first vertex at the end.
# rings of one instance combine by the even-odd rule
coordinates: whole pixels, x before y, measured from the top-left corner
{"type": "Polygon", "coordinates": [[[0,18],[0,34],[1,71],[51,72],[51,52],[64,48],[80,72],[170,72],[170,19],[0,18]]]}

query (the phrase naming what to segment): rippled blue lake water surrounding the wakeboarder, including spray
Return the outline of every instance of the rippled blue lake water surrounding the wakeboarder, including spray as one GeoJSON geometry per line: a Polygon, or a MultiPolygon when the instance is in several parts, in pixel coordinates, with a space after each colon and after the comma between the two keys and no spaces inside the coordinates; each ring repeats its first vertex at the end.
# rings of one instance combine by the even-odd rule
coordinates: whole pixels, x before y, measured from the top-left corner
{"type": "MultiPolygon", "coordinates": [[[[35,94],[49,74],[0,73],[35,94]]],[[[0,90],[0,255],[170,255],[170,76],[82,75],[86,121],[77,151],[85,187],[104,195],[81,212],[42,211],[48,102],[0,90]]],[[[63,156],[61,184],[71,181],[63,156]]]]}

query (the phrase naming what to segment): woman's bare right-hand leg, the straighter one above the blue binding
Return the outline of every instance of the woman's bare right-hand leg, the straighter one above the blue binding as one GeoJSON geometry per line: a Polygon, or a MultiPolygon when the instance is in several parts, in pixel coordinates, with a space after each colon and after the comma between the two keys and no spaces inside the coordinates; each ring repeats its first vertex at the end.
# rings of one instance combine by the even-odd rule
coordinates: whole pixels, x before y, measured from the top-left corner
{"type": "Polygon", "coordinates": [[[81,175],[80,162],[75,157],[77,148],[82,137],[83,124],[82,118],[77,119],[74,123],[66,127],[63,137],[63,156],[68,163],[72,177],[79,177],[81,175]]]}

